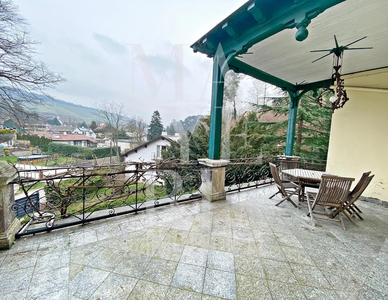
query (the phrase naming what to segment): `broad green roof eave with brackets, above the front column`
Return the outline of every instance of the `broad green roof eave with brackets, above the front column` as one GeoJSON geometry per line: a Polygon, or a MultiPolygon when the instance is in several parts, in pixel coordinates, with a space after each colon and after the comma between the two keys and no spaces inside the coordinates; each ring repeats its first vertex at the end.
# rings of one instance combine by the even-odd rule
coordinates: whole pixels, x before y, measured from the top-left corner
{"type": "MultiPolygon", "coordinates": [[[[273,1],[271,5],[264,1],[249,1],[233,14],[215,26],[191,47],[213,57],[215,47],[221,44],[225,55],[245,53],[252,45],[288,28],[306,30],[310,21],[326,9],[345,0],[300,0],[273,1]],[[225,23],[233,26],[235,35],[229,35],[222,28],[225,23]]],[[[297,32],[296,32],[297,33],[297,32]]],[[[307,36],[306,36],[307,37],[307,36]]]]}

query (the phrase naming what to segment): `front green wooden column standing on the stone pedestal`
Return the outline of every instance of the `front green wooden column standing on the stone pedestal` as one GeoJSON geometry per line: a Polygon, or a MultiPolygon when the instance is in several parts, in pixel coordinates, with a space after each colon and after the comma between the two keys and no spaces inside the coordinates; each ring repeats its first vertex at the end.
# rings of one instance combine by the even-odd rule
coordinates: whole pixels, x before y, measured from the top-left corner
{"type": "Polygon", "coordinates": [[[220,63],[220,57],[218,55],[214,56],[209,132],[210,159],[220,159],[221,152],[221,125],[222,103],[224,96],[224,77],[220,65],[222,65],[222,63],[220,63]]]}

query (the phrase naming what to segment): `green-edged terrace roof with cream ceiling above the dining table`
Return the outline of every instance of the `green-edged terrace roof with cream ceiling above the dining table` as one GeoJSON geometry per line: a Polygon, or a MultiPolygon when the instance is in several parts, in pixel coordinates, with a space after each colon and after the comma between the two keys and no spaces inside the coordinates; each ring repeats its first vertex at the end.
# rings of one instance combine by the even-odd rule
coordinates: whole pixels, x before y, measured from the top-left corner
{"type": "Polygon", "coordinates": [[[354,46],[373,47],[345,51],[342,74],[388,66],[387,14],[385,0],[249,1],[191,47],[222,51],[230,69],[283,89],[314,89],[330,85],[332,56],[313,64],[311,51],[334,48],[334,35],[341,45],[367,36],[354,46]]]}

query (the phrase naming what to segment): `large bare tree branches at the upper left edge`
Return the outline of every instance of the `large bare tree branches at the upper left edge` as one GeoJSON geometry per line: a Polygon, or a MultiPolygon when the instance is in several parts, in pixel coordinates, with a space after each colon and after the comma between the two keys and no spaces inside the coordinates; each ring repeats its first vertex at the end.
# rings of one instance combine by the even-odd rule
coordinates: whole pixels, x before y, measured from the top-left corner
{"type": "Polygon", "coordinates": [[[37,94],[64,79],[34,59],[34,46],[26,20],[10,0],[0,1],[0,117],[21,126],[33,116],[30,104],[41,102],[37,94]]]}

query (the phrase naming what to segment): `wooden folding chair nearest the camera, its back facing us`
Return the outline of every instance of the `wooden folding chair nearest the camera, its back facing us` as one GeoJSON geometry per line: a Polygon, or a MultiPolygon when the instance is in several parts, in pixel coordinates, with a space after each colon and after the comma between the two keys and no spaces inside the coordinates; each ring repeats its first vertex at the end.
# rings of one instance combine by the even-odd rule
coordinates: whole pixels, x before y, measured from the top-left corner
{"type": "Polygon", "coordinates": [[[309,206],[308,215],[310,215],[311,223],[313,226],[315,226],[314,215],[316,218],[332,220],[332,221],[340,221],[342,224],[343,230],[345,230],[345,225],[342,220],[342,216],[341,216],[342,213],[353,223],[353,221],[349,218],[348,214],[346,213],[345,205],[344,205],[345,201],[348,199],[350,186],[353,181],[354,181],[354,178],[323,175],[318,193],[312,193],[312,192],[306,193],[307,204],[309,206]],[[328,214],[314,212],[314,209],[317,206],[321,206],[323,208],[334,208],[334,211],[328,214]],[[324,217],[320,217],[319,215],[324,215],[324,217]],[[339,220],[334,219],[336,215],[339,216],[339,220]]]}

